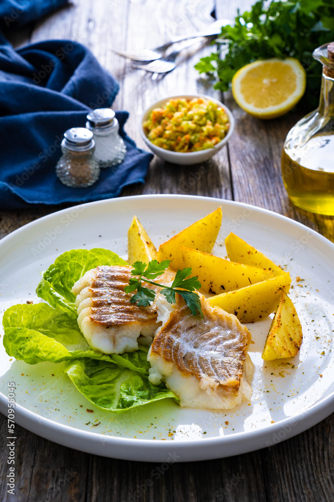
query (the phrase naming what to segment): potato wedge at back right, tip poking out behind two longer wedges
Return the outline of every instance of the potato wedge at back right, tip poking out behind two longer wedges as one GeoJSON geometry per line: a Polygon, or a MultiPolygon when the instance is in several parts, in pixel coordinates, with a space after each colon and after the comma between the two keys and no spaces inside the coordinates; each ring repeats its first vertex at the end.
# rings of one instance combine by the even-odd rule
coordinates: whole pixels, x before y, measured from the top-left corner
{"type": "Polygon", "coordinates": [[[247,244],[247,242],[232,232],[225,238],[225,246],[231,262],[240,262],[252,267],[271,270],[274,277],[288,274],[288,272],[275,265],[269,258],[255,249],[255,247],[247,244]]]}

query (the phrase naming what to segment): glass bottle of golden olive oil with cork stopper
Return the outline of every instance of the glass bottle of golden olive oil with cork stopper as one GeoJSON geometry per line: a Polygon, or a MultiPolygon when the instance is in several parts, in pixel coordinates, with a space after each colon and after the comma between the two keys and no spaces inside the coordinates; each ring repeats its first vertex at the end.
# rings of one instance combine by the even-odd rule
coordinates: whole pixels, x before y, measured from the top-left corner
{"type": "Polygon", "coordinates": [[[296,206],[334,215],[334,42],[315,49],[313,57],[323,65],[319,106],[288,133],[282,178],[296,206]]]}

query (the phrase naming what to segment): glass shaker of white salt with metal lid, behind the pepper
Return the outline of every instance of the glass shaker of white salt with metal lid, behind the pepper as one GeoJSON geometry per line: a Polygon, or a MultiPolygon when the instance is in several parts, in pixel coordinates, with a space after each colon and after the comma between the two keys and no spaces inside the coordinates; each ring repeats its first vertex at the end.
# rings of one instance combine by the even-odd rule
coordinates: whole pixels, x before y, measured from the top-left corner
{"type": "Polygon", "coordinates": [[[120,164],[126,154],[126,146],[119,136],[119,124],[110,108],[97,108],[87,115],[86,128],[92,131],[95,140],[95,157],[100,167],[120,164]]]}

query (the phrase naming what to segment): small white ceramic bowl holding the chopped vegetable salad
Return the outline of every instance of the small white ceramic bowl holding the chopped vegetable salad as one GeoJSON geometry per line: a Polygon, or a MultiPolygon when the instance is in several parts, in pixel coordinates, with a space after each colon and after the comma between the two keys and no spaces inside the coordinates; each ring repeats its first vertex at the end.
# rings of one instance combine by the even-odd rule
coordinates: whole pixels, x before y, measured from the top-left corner
{"type": "Polygon", "coordinates": [[[214,154],[216,154],[223,147],[223,145],[225,145],[225,143],[228,142],[228,140],[230,139],[231,134],[233,133],[233,129],[234,129],[234,117],[232,115],[232,112],[227,108],[227,106],[225,106],[223,103],[221,103],[217,99],[214,99],[214,98],[212,98],[210,96],[205,96],[204,94],[179,94],[179,95],[176,95],[176,96],[168,96],[168,97],[165,97],[163,99],[160,99],[159,101],[157,101],[156,103],[152,104],[149,108],[147,108],[144,111],[144,113],[143,113],[143,115],[141,117],[141,121],[140,121],[140,132],[141,132],[143,140],[145,141],[145,143],[148,146],[148,148],[150,150],[152,150],[152,152],[154,154],[156,154],[159,157],[161,157],[161,159],[163,159],[163,160],[166,160],[168,162],[172,162],[173,164],[183,164],[183,165],[198,164],[199,162],[204,162],[205,160],[207,160],[210,157],[212,157],[214,154]],[[213,148],[207,148],[206,150],[199,150],[198,152],[189,152],[189,153],[185,153],[185,152],[172,152],[171,150],[165,150],[164,148],[157,147],[156,145],[154,145],[147,138],[147,136],[144,133],[144,129],[143,129],[143,122],[147,119],[147,117],[149,116],[150,112],[154,108],[159,108],[162,105],[164,105],[166,101],[169,101],[169,99],[174,99],[174,98],[193,99],[194,97],[201,97],[201,98],[204,98],[204,99],[208,99],[210,101],[213,101],[213,102],[219,104],[219,106],[222,106],[224,108],[224,110],[225,110],[225,112],[226,112],[226,114],[228,116],[229,123],[230,123],[230,128],[229,128],[229,131],[228,131],[227,135],[225,136],[225,138],[223,138],[213,148]]]}

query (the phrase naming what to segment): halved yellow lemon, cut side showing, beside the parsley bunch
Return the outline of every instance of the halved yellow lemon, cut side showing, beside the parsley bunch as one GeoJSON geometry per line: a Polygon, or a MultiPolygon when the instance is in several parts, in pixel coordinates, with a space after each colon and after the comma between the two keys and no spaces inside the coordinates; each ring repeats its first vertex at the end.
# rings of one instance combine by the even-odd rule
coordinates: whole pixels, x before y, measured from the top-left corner
{"type": "Polygon", "coordinates": [[[305,86],[306,73],[297,59],[272,58],[240,68],[232,79],[232,94],[250,115],[275,118],[293,108],[305,86]]]}

